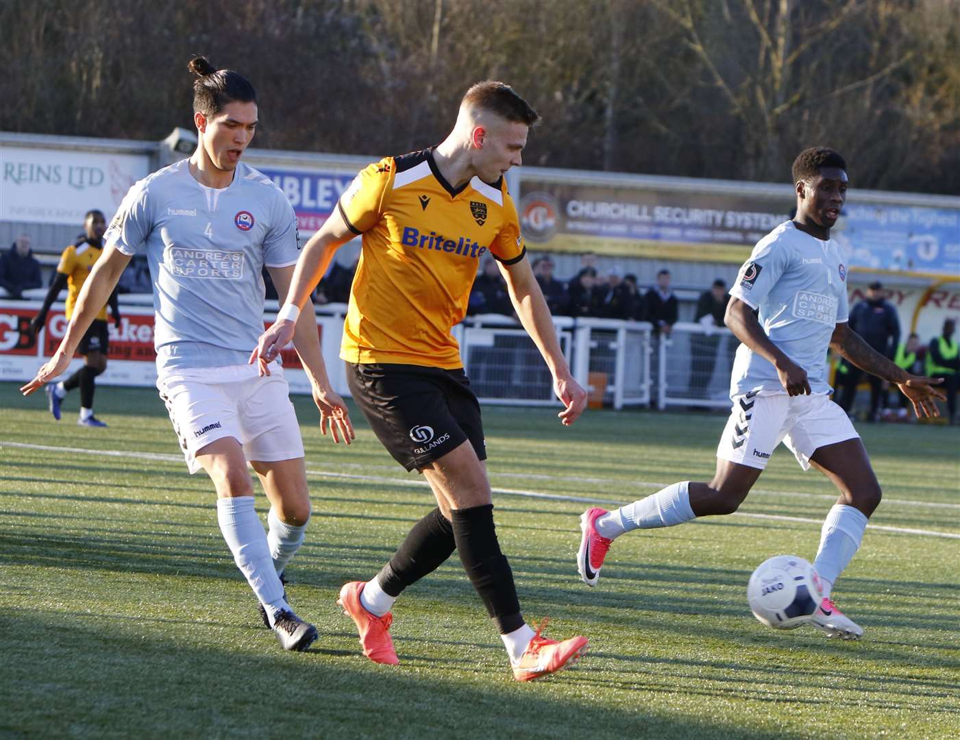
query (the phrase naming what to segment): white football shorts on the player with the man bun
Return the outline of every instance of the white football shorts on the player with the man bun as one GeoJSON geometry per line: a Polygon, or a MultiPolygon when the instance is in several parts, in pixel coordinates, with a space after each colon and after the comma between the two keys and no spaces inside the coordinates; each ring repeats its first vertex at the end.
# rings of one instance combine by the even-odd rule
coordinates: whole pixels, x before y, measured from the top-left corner
{"type": "Polygon", "coordinates": [[[169,370],[156,388],[167,406],[187,467],[210,442],[232,437],[247,460],[275,463],[303,457],[303,441],[283,369],[259,377],[255,365],[169,370]]]}

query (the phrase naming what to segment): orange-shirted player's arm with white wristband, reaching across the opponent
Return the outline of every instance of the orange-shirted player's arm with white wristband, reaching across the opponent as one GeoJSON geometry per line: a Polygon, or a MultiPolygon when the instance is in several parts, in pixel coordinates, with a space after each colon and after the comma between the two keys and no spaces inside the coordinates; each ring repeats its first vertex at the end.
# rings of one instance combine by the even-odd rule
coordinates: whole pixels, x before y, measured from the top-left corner
{"type": "Polygon", "coordinates": [[[280,350],[293,339],[296,317],[300,315],[300,309],[309,300],[320,278],[326,274],[330,260],[333,259],[333,253],[354,236],[356,234],[350,231],[338,208],[330,214],[324,226],[311,236],[303,247],[287,298],[280,308],[281,313],[276,317],[276,322],[260,335],[256,348],[250,355],[251,365],[259,362],[261,375],[265,372],[266,363],[276,360],[280,350]],[[287,309],[286,306],[293,308],[287,309]],[[294,318],[285,318],[290,312],[294,318]]]}

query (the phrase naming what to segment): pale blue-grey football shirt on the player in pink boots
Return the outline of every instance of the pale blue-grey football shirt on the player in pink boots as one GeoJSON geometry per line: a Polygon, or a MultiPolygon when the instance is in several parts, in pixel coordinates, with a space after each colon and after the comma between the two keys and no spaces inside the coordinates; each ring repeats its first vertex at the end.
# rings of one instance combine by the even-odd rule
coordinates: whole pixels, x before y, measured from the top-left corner
{"type": "MultiPolygon", "coordinates": [[[[763,331],[806,370],[812,393],[830,392],[830,337],[837,323],[846,322],[849,315],[846,258],[835,241],[816,239],[792,221],[780,224],[756,243],[730,295],[759,309],[763,331]]],[[[773,364],[740,345],[730,393],[751,391],[786,393],[773,364]]]]}

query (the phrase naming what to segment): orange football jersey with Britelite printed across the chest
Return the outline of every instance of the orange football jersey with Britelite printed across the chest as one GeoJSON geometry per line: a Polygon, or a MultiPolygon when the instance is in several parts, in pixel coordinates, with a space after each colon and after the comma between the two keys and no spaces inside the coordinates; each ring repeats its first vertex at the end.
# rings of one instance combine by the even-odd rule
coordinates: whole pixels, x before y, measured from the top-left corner
{"type": "Polygon", "coordinates": [[[454,189],[427,149],[370,165],[338,207],[363,235],[340,356],[462,368],[450,329],[467,314],[480,260],[510,265],[526,253],[503,178],[454,189]]]}

